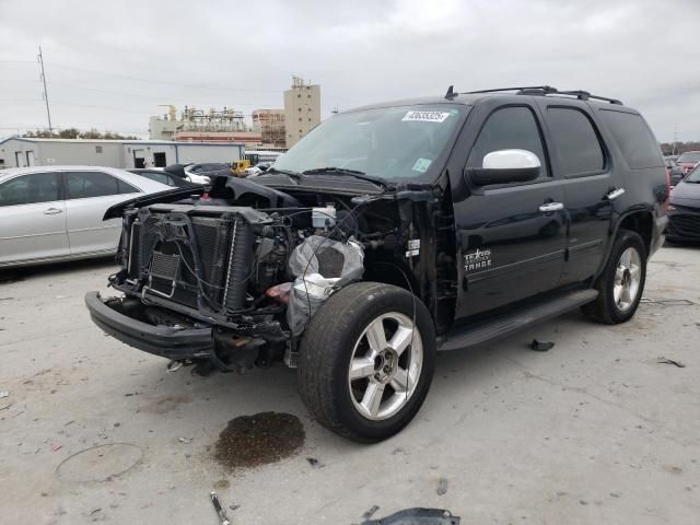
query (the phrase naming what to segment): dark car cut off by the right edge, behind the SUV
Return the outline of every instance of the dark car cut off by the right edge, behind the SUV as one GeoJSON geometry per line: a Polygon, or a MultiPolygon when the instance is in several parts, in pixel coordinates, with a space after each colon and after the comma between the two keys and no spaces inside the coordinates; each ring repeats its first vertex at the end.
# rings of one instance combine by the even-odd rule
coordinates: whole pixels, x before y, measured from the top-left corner
{"type": "Polygon", "coordinates": [[[700,165],[670,192],[666,238],[700,243],[700,165]]]}

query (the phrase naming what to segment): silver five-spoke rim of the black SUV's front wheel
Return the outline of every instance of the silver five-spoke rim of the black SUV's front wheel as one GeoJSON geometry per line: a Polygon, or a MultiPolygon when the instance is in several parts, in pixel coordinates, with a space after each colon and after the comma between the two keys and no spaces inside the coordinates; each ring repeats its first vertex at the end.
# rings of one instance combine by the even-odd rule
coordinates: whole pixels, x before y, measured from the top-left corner
{"type": "Polygon", "coordinates": [[[412,397],[423,368],[423,341],[410,317],[390,312],[374,318],[352,349],[350,399],[372,421],[398,413],[412,397]]]}

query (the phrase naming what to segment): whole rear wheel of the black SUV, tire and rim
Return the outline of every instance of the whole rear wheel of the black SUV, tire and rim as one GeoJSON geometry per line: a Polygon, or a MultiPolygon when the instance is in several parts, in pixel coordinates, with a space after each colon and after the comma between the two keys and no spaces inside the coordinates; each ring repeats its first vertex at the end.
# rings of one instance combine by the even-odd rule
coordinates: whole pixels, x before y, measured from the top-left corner
{"type": "Polygon", "coordinates": [[[608,325],[631,319],[642,299],[645,280],[644,241],[637,232],[620,230],[603,273],[595,281],[598,296],[582,307],[583,313],[593,320],[608,325]]]}

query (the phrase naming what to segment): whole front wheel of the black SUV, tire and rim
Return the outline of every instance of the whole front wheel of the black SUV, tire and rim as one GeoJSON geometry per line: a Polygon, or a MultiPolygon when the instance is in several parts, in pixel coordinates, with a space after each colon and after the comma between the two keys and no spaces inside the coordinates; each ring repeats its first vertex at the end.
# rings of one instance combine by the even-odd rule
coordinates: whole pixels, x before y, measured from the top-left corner
{"type": "Polygon", "coordinates": [[[306,326],[298,387],[320,424],[372,443],[413,419],[434,366],[435,331],[423,303],[392,284],[359,282],[331,295],[306,326]]]}

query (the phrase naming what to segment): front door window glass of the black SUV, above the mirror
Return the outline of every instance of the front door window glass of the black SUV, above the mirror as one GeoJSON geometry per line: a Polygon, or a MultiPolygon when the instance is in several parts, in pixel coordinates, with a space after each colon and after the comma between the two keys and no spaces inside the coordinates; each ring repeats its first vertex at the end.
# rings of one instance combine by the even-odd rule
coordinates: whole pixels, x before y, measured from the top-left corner
{"type": "Polygon", "coordinates": [[[532,109],[524,106],[502,107],[489,116],[469,153],[467,167],[481,167],[488,153],[513,149],[535,153],[542,176],[549,176],[539,126],[532,109]]]}

